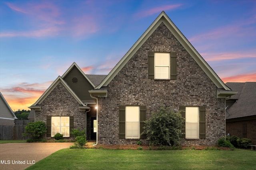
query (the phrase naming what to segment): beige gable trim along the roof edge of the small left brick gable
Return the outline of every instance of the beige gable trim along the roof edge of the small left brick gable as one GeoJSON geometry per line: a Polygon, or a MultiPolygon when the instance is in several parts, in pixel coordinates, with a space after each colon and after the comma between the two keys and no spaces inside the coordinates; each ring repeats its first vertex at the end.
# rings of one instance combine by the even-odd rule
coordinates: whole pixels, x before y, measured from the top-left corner
{"type": "Polygon", "coordinates": [[[80,109],[90,109],[90,107],[87,107],[79,98],[78,96],[73,92],[73,90],[68,86],[68,84],[63,80],[61,76],[58,76],[56,80],[50,85],[50,87],[42,94],[42,96],[34,103],[32,106],[28,107],[30,109],[34,110],[40,110],[41,109],[41,103],[44,101],[44,99],[52,92],[52,90],[59,84],[62,83],[64,87],[70,92],[70,94],[76,99],[76,101],[80,104],[80,109]]]}

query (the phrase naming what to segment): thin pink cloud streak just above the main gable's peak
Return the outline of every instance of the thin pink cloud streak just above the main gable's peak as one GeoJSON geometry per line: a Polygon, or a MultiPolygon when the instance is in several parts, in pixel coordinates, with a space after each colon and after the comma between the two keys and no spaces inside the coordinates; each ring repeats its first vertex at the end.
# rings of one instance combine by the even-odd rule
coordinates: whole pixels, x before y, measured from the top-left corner
{"type": "Polygon", "coordinates": [[[135,14],[135,16],[136,16],[136,18],[144,18],[147,16],[151,16],[153,14],[160,13],[162,11],[173,10],[180,6],[182,6],[182,4],[158,6],[155,8],[151,8],[149,10],[144,10],[144,11],[138,12],[137,14],[135,14]]]}

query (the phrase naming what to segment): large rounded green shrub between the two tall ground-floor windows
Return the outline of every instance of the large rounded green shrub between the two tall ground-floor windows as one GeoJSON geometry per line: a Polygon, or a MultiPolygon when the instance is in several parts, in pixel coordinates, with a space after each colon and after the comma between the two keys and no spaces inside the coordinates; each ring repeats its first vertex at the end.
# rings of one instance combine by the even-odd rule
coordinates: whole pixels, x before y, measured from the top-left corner
{"type": "Polygon", "coordinates": [[[143,134],[147,135],[150,145],[179,145],[182,135],[183,118],[180,112],[174,112],[170,107],[162,106],[152,113],[145,121],[143,134]]]}

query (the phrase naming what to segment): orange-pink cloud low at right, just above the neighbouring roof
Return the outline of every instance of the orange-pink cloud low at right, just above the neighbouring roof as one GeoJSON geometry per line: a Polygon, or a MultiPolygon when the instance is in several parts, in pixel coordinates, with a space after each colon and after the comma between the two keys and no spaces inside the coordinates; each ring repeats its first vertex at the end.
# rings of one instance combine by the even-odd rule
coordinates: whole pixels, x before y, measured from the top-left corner
{"type": "Polygon", "coordinates": [[[230,76],[221,78],[224,83],[226,82],[256,82],[256,73],[252,74],[240,74],[236,76],[230,76]]]}

